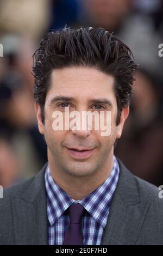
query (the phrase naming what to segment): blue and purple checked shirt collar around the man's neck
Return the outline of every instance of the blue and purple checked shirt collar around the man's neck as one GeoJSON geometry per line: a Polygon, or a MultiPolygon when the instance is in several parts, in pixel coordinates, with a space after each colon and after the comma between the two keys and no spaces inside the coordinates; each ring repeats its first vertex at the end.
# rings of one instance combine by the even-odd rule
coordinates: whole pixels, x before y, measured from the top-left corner
{"type": "Polygon", "coordinates": [[[111,199],[118,182],[119,172],[120,168],[114,156],[111,173],[104,183],[84,199],[76,201],[53,180],[49,166],[47,166],[45,186],[49,223],[53,225],[72,203],[80,203],[99,224],[105,227],[108,220],[111,199]]]}

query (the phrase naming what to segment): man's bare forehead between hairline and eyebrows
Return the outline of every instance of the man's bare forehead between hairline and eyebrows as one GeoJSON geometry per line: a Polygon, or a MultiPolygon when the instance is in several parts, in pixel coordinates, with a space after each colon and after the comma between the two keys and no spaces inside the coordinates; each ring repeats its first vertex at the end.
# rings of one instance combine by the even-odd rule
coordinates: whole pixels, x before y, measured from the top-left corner
{"type": "MultiPolygon", "coordinates": [[[[92,96],[114,98],[114,77],[96,68],[68,67],[55,69],[51,74],[48,97],[65,94],[76,99],[92,96]]],[[[112,99],[114,100],[114,99],[112,99]]]]}

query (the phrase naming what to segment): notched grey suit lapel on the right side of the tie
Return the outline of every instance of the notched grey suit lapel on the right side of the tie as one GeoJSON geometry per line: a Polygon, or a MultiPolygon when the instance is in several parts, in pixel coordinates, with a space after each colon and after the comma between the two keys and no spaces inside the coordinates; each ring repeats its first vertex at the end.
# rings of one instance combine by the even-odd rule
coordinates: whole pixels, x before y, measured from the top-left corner
{"type": "Polygon", "coordinates": [[[141,202],[134,176],[120,164],[120,178],[111,203],[102,245],[134,245],[150,202],[141,202]]]}

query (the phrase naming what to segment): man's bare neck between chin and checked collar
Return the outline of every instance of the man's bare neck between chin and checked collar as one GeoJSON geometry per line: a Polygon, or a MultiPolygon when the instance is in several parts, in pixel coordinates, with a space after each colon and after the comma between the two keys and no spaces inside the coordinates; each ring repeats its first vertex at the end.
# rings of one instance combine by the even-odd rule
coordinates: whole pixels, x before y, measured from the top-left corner
{"type": "Polygon", "coordinates": [[[102,185],[109,177],[113,166],[113,150],[99,170],[86,176],[72,175],[60,169],[56,166],[51,154],[48,154],[48,163],[53,180],[62,190],[74,200],[82,200],[102,185]]]}

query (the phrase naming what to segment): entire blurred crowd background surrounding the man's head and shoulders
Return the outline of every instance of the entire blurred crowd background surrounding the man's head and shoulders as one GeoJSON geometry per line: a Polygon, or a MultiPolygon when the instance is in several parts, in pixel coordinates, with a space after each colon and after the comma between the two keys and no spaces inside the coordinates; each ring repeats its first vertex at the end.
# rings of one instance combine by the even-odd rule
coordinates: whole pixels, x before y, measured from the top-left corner
{"type": "Polygon", "coordinates": [[[115,149],[131,172],[163,184],[162,0],[0,0],[0,185],[35,175],[47,161],[34,112],[32,55],[51,29],[104,27],[133,51],[140,69],[115,149]]]}

